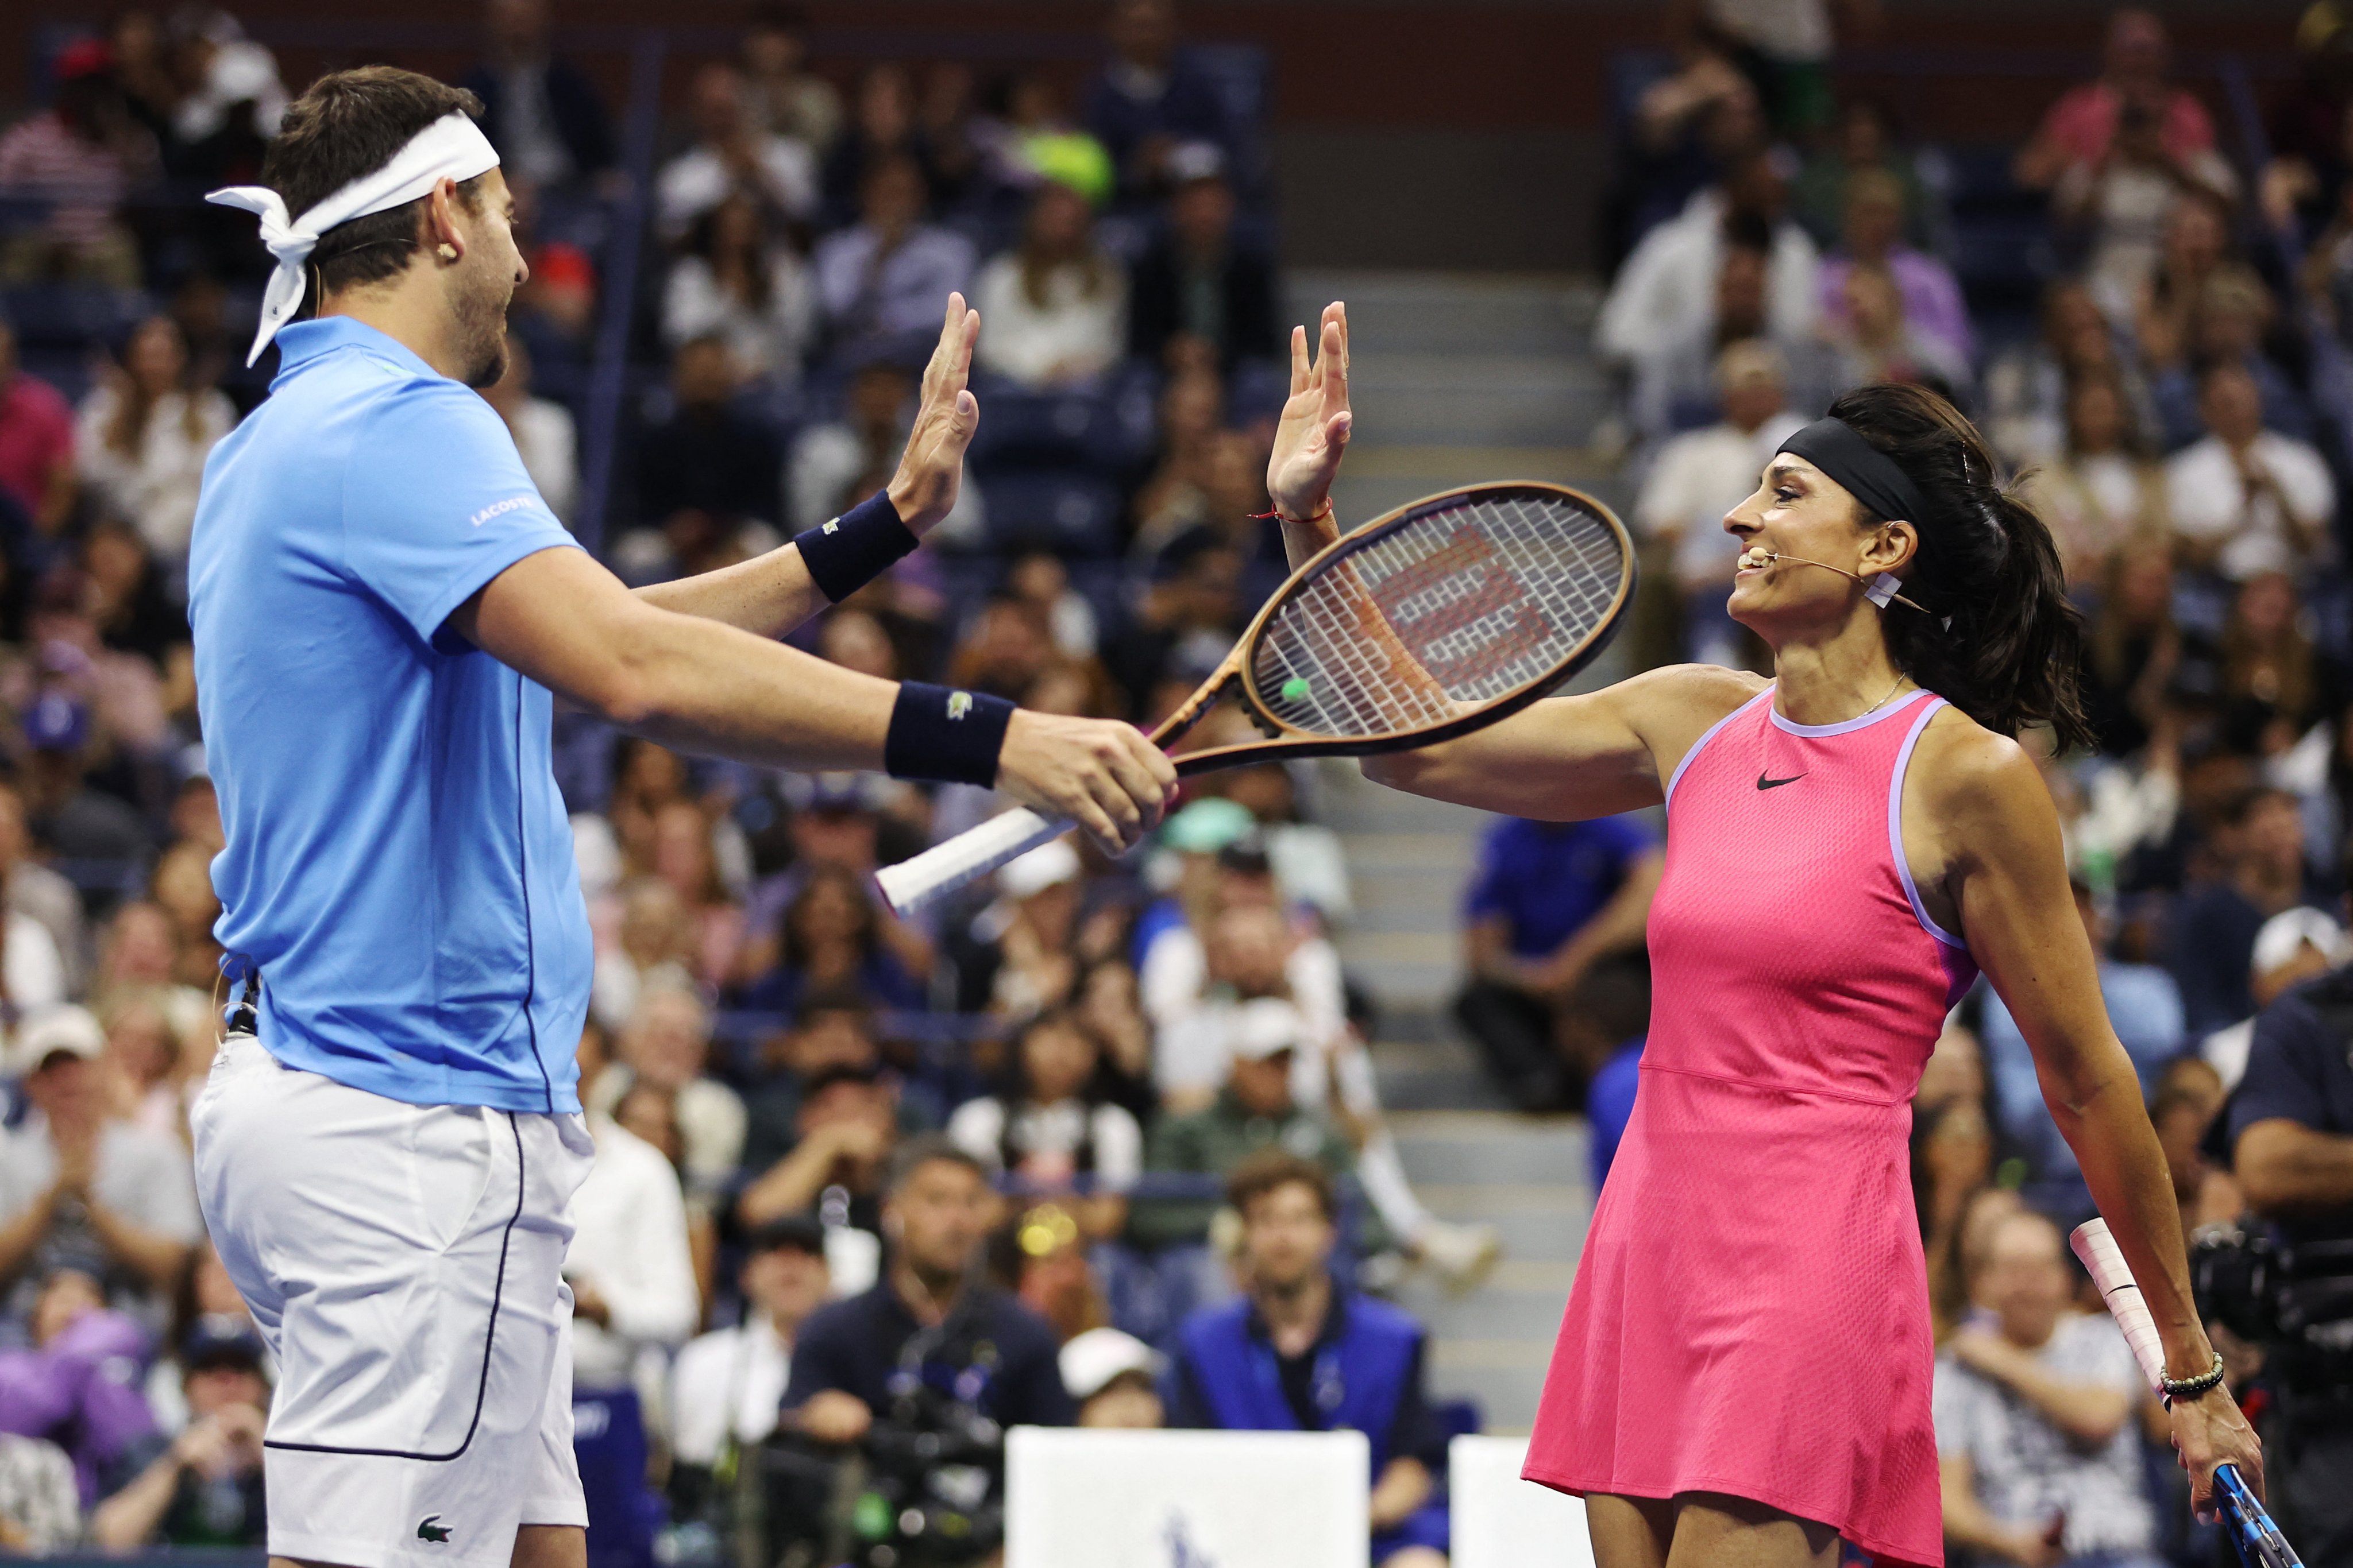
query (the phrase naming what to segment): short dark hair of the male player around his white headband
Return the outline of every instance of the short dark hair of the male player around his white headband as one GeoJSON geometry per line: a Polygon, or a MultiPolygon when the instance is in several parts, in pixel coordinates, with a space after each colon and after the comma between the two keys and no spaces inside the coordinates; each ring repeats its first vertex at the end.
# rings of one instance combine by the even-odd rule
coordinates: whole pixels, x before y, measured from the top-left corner
{"type": "MultiPolygon", "coordinates": [[[[287,214],[299,219],[351,181],[388,165],[416,132],[452,110],[480,118],[482,99],[398,66],[329,71],[287,106],[278,139],[261,158],[261,183],[285,197],[287,214]]],[[[475,207],[480,176],[459,181],[456,190],[468,209],[475,207]]],[[[320,235],[311,252],[318,292],[336,294],[395,277],[421,242],[426,200],[372,212],[320,235]]]]}

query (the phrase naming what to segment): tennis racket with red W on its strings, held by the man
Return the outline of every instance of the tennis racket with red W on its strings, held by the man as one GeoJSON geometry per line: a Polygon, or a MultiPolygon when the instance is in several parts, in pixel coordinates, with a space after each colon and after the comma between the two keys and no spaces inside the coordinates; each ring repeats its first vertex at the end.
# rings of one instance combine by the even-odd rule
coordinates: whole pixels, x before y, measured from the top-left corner
{"type": "MultiPolygon", "coordinates": [[[[1266,738],[1186,752],[1176,773],[1452,741],[1593,663],[1631,602],[1633,538],[1600,501],[1534,482],[1428,496],[1299,567],[1153,745],[1228,693],[1266,738]]],[[[1007,811],[875,882],[908,914],[1068,830],[1007,811]]]]}

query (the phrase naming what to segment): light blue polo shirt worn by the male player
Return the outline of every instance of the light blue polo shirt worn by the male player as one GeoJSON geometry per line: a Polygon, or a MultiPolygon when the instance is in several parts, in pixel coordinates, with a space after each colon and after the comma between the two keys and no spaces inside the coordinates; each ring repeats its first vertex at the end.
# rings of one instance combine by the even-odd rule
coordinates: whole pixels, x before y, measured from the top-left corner
{"type": "Polygon", "coordinates": [[[214,936],[278,1060],[412,1105],[579,1110],[588,905],[546,686],[442,621],[572,545],[499,414],[351,317],[278,334],[188,543],[214,936]]]}

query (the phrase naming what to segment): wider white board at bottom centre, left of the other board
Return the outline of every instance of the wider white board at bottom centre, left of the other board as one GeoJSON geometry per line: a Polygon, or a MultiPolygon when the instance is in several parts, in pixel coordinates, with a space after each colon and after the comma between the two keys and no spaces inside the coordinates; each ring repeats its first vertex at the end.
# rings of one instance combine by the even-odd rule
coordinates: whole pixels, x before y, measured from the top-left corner
{"type": "Polygon", "coordinates": [[[1005,1568],[1367,1568],[1362,1432],[1005,1439],[1005,1568]]]}

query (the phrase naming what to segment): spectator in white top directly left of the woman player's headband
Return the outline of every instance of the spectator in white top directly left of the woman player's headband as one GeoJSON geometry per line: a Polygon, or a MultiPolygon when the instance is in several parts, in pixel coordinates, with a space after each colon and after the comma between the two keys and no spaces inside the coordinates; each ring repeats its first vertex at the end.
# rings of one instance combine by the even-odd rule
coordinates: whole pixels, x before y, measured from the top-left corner
{"type": "Polygon", "coordinates": [[[1678,597],[1685,658],[1741,663],[1741,630],[1722,614],[1732,557],[1739,555],[1739,543],[1725,534],[1725,512],[1755,489],[1772,454],[1805,425],[1788,409],[1786,376],[1781,353],[1760,339],[1741,339],[1715,355],[1722,418],[1668,440],[1635,498],[1635,522],[1654,548],[1654,567],[1668,571],[1678,597]]]}

